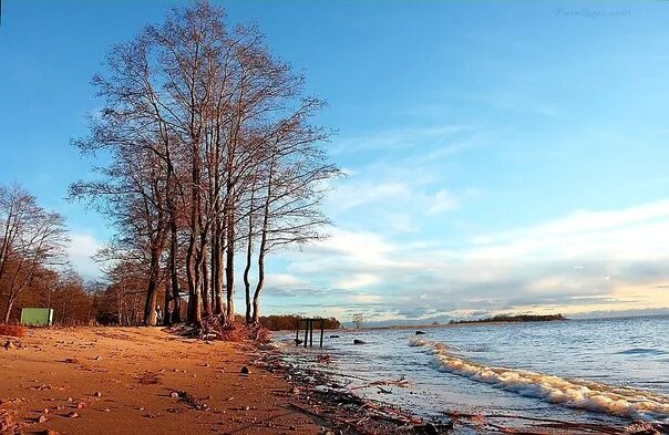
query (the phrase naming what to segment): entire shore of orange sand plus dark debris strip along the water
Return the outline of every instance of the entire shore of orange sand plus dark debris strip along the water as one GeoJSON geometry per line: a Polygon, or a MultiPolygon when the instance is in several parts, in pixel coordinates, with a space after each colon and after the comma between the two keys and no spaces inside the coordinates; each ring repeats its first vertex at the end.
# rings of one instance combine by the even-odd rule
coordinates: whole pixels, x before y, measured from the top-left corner
{"type": "Polygon", "coordinates": [[[0,435],[637,433],[456,410],[421,417],[343,385],[346,374],[316,350],[308,358],[317,364],[302,364],[275,345],[207,342],[161,328],[29,329],[25,338],[0,336],[0,345],[8,341],[0,348],[0,435]],[[537,431],[542,424],[553,428],[537,431]]]}

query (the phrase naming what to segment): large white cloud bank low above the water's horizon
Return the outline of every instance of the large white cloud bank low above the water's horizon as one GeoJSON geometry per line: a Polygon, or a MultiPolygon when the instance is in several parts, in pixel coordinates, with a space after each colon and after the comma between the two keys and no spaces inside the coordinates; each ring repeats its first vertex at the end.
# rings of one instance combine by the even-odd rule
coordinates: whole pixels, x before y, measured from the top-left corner
{"type": "Polygon", "coordinates": [[[339,289],[333,304],[377,319],[668,307],[669,201],[581,210],[456,249],[336,229],[286,258],[300,281],[339,289]]]}

